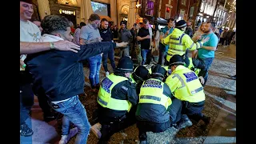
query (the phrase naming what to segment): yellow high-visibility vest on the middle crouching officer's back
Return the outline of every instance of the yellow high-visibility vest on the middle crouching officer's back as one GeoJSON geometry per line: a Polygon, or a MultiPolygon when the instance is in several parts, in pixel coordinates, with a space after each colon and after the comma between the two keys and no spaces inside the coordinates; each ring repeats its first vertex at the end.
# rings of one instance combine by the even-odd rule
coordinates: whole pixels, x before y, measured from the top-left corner
{"type": "Polygon", "coordinates": [[[153,103],[165,106],[166,110],[171,105],[170,97],[163,94],[164,82],[150,78],[143,82],[138,103],[153,103]]]}

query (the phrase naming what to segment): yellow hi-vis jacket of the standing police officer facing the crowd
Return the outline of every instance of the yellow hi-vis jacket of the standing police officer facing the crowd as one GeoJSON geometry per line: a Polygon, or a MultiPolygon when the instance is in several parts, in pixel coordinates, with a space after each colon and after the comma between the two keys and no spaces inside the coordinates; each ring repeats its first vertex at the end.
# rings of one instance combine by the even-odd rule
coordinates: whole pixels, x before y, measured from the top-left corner
{"type": "Polygon", "coordinates": [[[174,54],[183,55],[186,53],[186,49],[196,50],[202,47],[203,42],[194,43],[189,35],[185,34],[184,31],[174,28],[174,31],[169,34],[166,38],[162,39],[162,44],[169,45],[166,60],[170,62],[170,58],[174,54]]]}

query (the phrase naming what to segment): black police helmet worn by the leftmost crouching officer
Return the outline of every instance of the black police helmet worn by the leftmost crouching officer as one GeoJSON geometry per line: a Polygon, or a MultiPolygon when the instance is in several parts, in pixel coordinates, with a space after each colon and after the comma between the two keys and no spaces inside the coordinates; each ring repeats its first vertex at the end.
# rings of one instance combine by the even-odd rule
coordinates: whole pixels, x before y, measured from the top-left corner
{"type": "Polygon", "coordinates": [[[116,71],[119,72],[133,72],[134,62],[130,59],[130,57],[122,57],[118,61],[118,66],[116,67],[116,71]]]}

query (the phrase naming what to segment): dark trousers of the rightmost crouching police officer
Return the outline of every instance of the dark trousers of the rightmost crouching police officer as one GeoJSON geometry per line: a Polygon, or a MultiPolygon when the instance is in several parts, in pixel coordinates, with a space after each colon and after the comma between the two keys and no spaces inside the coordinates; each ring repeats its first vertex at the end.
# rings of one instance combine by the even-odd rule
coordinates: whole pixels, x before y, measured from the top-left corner
{"type": "Polygon", "coordinates": [[[182,101],[182,114],[186,114],[190,119],[198,122],[203,114],[202,110],[205,105],[205,101],[202,102],[187,102],[182,101]]]}

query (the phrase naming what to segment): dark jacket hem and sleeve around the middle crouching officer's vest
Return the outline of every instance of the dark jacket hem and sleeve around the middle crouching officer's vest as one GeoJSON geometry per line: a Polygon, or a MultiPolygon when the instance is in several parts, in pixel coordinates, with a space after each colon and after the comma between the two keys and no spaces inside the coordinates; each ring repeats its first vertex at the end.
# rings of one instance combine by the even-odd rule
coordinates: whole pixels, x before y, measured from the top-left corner
{"type": "MultiPolygon", "coordinates": [[[[166,97],[172,98],[170,88],[166,83],[163,85],[163,94],[165,94],[166,97]]],[[[138,121],[162,123],[170,120],[170,114],[165,106],[151,103],[138,103],[136,118],[138,121]]]]}

